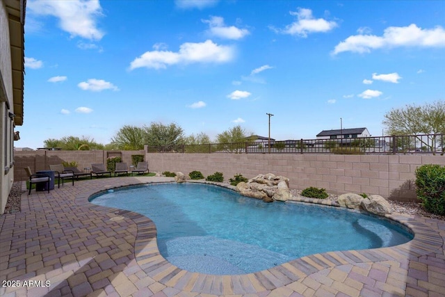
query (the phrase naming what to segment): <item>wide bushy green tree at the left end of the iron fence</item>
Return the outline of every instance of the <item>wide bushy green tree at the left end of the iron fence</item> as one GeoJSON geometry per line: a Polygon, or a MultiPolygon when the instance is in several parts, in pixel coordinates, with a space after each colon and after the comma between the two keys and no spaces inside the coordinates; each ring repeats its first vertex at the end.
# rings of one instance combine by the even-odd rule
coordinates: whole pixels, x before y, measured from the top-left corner
{"type": "Polygon", "coordinates": [[[175,123],[163,125],[161,122],[152,122],[149,127],[144,127],[144,129],[145,143],[157,147],[159,152],[170,152],[185,142],[184,130],[175,123]]]}

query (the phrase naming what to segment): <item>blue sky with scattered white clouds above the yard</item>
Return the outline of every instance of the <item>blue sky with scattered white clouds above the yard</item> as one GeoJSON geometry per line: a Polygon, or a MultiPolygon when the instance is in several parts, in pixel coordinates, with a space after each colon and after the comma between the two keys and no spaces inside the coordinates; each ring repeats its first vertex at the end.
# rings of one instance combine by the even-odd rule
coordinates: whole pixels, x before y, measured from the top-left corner
{"type": "Polygon", "coordinates": [[[31,1],[17,147],[175,122],[277,140],[445,99],[444,1],[31,1]]]}

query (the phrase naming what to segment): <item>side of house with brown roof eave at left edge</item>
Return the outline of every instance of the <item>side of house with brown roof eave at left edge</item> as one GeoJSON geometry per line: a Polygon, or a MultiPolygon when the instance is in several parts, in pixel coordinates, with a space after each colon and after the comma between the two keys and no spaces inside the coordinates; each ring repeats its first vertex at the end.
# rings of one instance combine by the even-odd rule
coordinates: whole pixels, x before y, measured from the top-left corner
{"type": "Polygon", "coordinates": [[[14,182],[14,127],[23,124],[24,0],[0,0],[0,211],[14,182]]]}

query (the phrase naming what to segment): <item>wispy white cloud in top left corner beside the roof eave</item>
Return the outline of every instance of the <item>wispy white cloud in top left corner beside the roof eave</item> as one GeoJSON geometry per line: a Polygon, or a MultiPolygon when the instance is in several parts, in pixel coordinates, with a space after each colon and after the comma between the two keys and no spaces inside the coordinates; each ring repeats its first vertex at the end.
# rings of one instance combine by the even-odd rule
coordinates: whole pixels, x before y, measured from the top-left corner
{"type": "Polygon", "coordinates": [[[100,40],[104,32],[97,29],[97,18],[102,16],[98,0],[93,1],[28,1],[26,8],[35,15],[52,15],[59,19],[59,26],[71,37],[80,36],[100,40]]]}

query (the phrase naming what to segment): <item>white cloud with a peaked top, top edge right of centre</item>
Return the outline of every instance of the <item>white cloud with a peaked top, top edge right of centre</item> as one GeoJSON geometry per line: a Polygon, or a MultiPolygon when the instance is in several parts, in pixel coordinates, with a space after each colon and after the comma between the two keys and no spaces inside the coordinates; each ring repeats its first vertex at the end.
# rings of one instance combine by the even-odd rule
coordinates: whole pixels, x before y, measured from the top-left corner
{"type": "Polygon", "coordinates": [[[315,19],[312,16],[312,10],[308,8],[298,8],[298,11],[290,11],[289,13],[295,15],[297,21],[287,25],[285,29],[275,31],[306,38],[309,33],[328,32],[337,26],[336,22],[315,19]]]}

